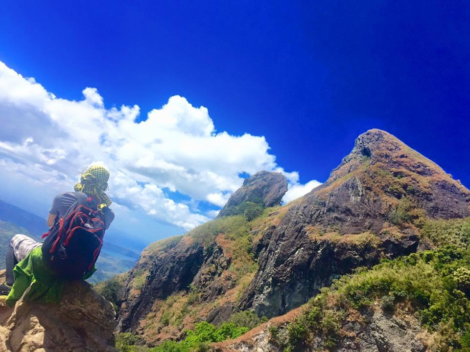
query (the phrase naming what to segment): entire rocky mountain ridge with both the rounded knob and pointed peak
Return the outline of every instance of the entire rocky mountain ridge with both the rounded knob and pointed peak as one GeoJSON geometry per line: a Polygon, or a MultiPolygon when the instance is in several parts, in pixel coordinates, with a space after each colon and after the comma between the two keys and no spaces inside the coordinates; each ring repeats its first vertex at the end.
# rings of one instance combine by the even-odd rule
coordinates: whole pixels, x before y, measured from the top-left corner
{"type": "MultiPolygon", "coordinates": [[[[286,187],[278,175],[245,180],[224,212],[259,199],[279,203],[286,187]]],[[[417,222],[468,217],[469,204],[470,191],[438,165],[370,130],[304,197],[254,220],[221,212],[183,238],[149,247],[120,293],[118,330],[152,345],[234,311],[284,314],[358,266],[428,248],[417,222]]]]}

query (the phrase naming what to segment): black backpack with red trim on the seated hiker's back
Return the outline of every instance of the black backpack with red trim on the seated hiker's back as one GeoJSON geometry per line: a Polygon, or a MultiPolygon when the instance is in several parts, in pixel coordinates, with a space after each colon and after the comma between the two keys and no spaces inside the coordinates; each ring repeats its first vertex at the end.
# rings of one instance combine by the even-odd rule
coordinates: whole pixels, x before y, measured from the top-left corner
{"type": "Polygon", "coordinates": [[[67,213],[43,235],[45,263],[66,280],[79,280],[93,268],[106,228],[94,198],[82,192],[76,192],[75,197],[77,201],[67,213]]]}

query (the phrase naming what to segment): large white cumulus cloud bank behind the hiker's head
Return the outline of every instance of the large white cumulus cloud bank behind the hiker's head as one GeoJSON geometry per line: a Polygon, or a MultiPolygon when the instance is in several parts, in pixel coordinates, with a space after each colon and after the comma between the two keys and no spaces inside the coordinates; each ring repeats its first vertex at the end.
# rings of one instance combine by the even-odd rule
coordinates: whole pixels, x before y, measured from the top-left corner
{"type": "MultiPolygon", "coordinates": [[[[217,211],[189,208],[165,196],[179,192],[193,203],[222,207],[241,186],[240,174],[280,171],[288,179],[284,201],[312,185],[298,182],[276,164],[263,136],[217,132],[207,108],[172,96],[136,122],[139,106],[105,108],[96,88],[83,99],[61,99],[33,78],[24,78],[0,62],[0,165],[21,175],[22,187],[47,185],[70,189],[83,168],[101,160],[110,169],[110,197],[117,208],[190,229],[217,211]]],[[[20,187],[20,186],[19,186],[20,187]]],[[[304,192],[304,193],[303,193],[304,192]]]]}

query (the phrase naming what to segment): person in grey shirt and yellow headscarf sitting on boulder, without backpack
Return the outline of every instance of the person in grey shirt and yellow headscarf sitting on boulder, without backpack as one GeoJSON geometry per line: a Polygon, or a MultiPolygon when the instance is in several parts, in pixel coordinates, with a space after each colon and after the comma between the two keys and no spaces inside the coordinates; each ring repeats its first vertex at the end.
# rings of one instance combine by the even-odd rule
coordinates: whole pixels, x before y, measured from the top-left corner
{"type": "MultiPolygon", "coordinates": [[[[100,218],[104,220],[101,221],[104,222],[103,227],[107,229],[115,217],[109,208],[112,201],[104,192],[108,188],[108,179],[109,171],[104,166],[92,165],[81,175],[80,182],[75,184],[75,192],[57,195],[47,218],[49,233],[53,226],[59,227],[60,220],[72,206],[77,205],[81,197],[88,197],[88,201],[93,200],[96,211],[100,212],[100,218]]],[[[47,264],[41,249],[42,245],[43,243],[22,234],[17,234],[11,239],[5,258],[6,280],[0,285],[0,300],[4,300],[8,306],[12,307],[28,287],[26,296],[29,299],[39,299],[45,303],[60,300],[64,280],[57,274],[57,270],[52,270],[47,264]]],[[[96,270],[94,263],[92,265],[93,268],[83,279],[90,277],[96,270]]]]}

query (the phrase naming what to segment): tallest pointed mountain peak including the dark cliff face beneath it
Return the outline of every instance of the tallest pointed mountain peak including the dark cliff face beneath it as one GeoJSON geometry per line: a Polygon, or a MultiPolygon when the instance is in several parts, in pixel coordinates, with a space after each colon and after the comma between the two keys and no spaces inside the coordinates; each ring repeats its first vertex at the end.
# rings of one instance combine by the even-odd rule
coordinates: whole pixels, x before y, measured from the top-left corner
{"type": "Polygon", "coordinates": [[[419,212],[463,218],[469,205],[470,191],[435,163],[387,132],[368,131],[328,181],[255,245],[258,272],[238,309],[283,314],[337,275],[416,251],[420,239],[410,219],[419,212]]]}

